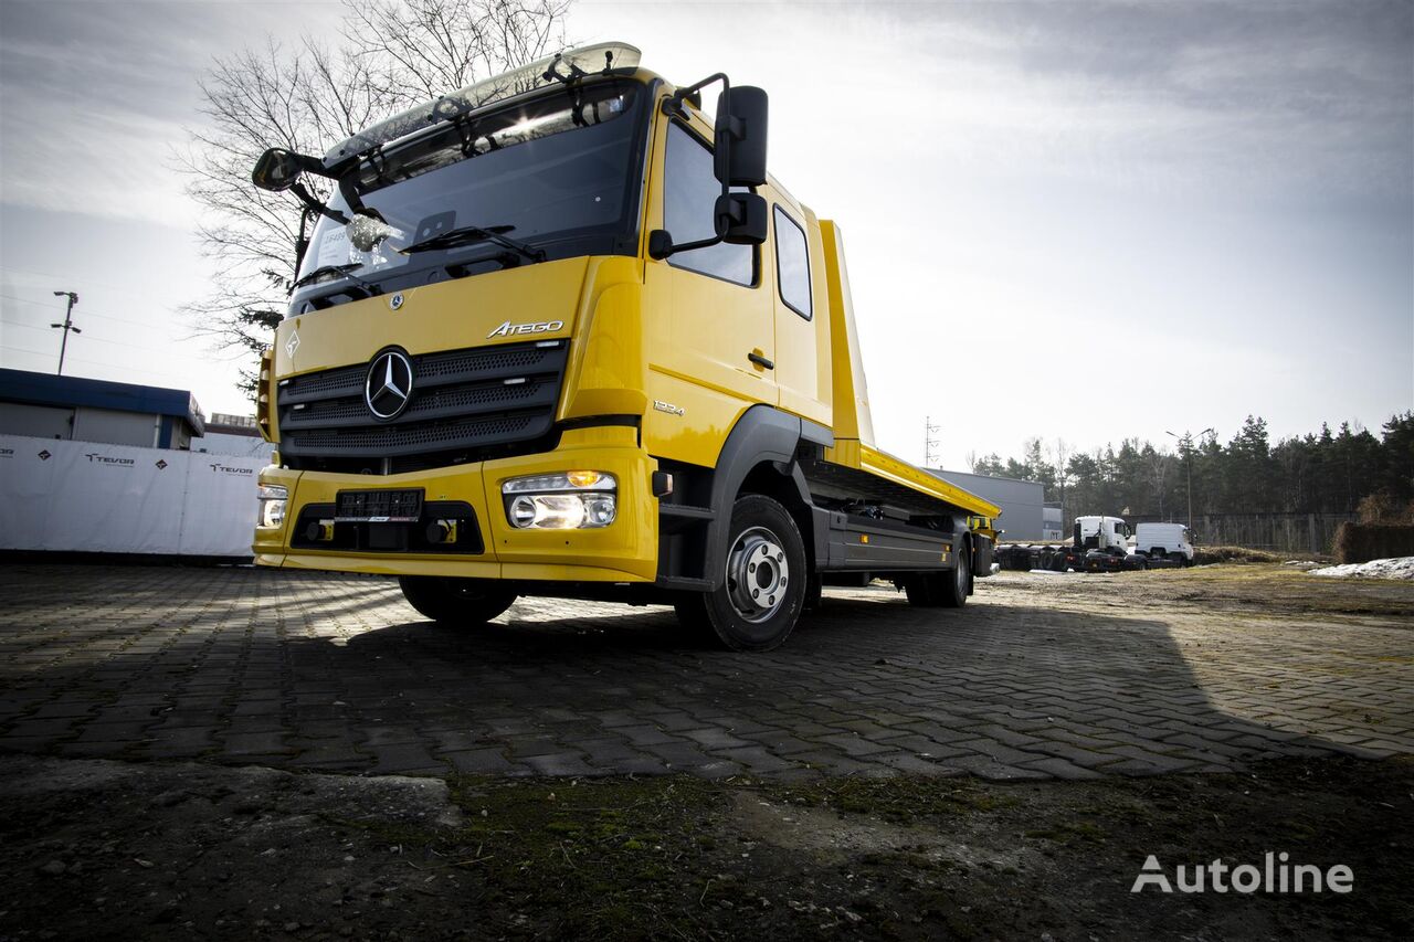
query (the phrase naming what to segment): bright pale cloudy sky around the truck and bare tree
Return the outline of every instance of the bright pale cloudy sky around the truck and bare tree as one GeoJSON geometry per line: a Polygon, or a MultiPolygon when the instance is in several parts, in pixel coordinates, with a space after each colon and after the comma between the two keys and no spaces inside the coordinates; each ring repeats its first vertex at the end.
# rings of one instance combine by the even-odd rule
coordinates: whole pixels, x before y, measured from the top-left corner
{"type": "MultiPolygon", "coordinates": [[[[249,413],[174,156],[212,57],[338,3],[0,0],[0,366],[249,413]]],[[[773,175],[844,243],[878,444],[942,467],[1249,414],[1414,409],[1414,3],[598,3],[680,83],[771,95],[773,175]]]]}

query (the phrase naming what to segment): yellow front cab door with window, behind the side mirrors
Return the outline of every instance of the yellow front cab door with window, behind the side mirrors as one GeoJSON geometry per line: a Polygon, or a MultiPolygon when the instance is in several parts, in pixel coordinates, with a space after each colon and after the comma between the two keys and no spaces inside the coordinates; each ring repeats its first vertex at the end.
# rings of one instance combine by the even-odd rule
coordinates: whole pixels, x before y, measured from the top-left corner
{"type": "MultiPolygon", "coordinates": [[[[707,140],[696,116],[660,122],[649,228],[666,229],[676,245],[713,235],[721,184],[707,140]]],[[[773,283],[761,255],[720,243],[646,260],[643,440],[652,454],[711,465],[742,412],[779,402],[773,283]]]]}

